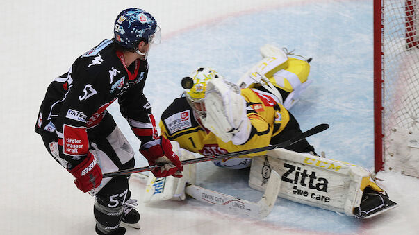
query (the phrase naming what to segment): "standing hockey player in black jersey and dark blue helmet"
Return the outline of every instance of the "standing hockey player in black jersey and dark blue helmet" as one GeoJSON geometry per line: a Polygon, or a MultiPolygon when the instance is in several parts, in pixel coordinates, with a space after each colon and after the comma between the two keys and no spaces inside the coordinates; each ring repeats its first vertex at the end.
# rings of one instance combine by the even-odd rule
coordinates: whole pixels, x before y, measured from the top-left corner
{"type": "Polygon", "coordinates": [[[138,8],[123,10],[115,37],[84,53],[56,78],[42,101],[35,132],[48,152],[76,180],[81,191],[95,195],[97,234],[124,234],[120,222],[139,228],[126,176],[102,179],[102,173],[133,168],[134,151],[106,108],[118,101],[141,141],[140,153],[156,177],[182,177],[183,166],[170,141],[159,137],[151,105],[143,94],[147,53],[161,40],[154,17],[138,8]]]}

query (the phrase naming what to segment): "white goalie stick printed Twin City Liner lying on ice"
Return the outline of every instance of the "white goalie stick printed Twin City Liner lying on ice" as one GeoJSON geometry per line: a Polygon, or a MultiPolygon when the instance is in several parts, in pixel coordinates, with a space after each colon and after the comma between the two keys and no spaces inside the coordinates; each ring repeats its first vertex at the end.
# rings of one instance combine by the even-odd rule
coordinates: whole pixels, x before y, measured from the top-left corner
{"type": "MultiPolygon", "coordinates": [[[[141,173],[133,174],[133,176],[142,180],[145,180],[147,177],[147,175],[142,175],[141,173]]],[[[272,211],[272,208],[277,201],[280,187],[281,177],[276,171],[271,171],[265,193],[263,193],[261,200],[258,202],[250,202],[194,184],[186,184],[185,193],[200,202],[213,204],[221,211],[228,211],[231,214],[262,219],[268,216],[270,211],[272,211]]]]}

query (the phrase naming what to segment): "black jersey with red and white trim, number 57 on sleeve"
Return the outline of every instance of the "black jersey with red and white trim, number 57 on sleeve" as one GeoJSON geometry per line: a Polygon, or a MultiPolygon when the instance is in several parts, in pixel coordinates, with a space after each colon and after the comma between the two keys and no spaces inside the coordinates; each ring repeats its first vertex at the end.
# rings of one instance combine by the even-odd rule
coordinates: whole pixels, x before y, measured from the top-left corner
{"type": "Polygon", "coordinates": [[[138,139],[142,143],[156,139],[151,105],[143,94],[147,73],[147,60],[136,60],[126,68],[124,55],[113,41],[102,41],[51,82],[35,132],[55,132],[65,155],[81,157],[88,153],[88,130],[98,125],[106,108],[118,100],[122,116],[138,139]]]}

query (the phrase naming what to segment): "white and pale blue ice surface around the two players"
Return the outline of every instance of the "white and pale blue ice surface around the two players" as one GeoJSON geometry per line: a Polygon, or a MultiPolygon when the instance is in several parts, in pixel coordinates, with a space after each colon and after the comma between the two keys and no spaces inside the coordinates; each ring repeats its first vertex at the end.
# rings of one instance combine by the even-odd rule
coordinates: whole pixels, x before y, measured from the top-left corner
{"type": "MultiPolygon", "coordinates": [[[[44,92],[56,76],[104,38],[124,8],[158,20],[163,42],[151,49],[145,93],[156,119],[181,94],[180,79],[209,66],[231,81],[274,44],[313,57],[313,84],[291,112],[302,130],[331,127],[309,138],[327,156],[373,167],[372,1],[176,0],[3,1],[1,3],[0,234],[95,234],[94,198],[81,193],[47,154],[33,127],[44,92]]],[[[138,148],[116,105],[118,125],[138,148]]],[[[137,166],[146,166],[136,154],[137,166]]],[[[198,184],[256,201],[247,171],[198,164],[198,184]]],[[[279,198],[263,220],[239,218],[192,199],[142,204],[142,228],[126,234],[419,234],[419,180],[379,173],[399,207],[370,220],[279,198]]],[[[141,201],[144,182],[131,180],[141,201]]]]}

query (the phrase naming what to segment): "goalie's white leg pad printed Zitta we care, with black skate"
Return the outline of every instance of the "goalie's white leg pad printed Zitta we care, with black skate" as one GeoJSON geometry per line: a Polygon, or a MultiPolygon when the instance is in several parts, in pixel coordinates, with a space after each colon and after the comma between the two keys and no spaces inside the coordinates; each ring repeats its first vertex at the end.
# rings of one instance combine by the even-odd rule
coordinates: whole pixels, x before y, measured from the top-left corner
{"type": "Polygon", "coordinates": [[[361,166],[279,148],[253,157],[249,186],[264,191],[272,170],[281,175],[279,197],[294,202],[356,218],[397,206],[361,166]]]}

